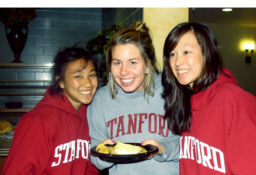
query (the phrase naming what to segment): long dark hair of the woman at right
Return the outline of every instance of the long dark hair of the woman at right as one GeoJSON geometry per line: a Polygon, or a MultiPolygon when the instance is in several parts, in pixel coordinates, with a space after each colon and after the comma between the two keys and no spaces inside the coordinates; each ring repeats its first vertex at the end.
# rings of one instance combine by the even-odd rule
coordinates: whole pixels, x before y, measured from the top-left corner
{"type": "Polygon", "coordinates": [[[164,44],[164,68],[162,74],[163,98],[165,99],[165,118],[171,131],[180,135],[183,131],[190,131],[191,104],[190,97],[206,90],[218,78],[222,69],[220,45],[212,32],[205,24],[188,22],[174,27],[164,44]],[[184,34],[191,32],[197,38],[204,58],[204,65],[193,87],[181,85],[176,79],[170,66],[170,53],[176,48],[184,34]]]}

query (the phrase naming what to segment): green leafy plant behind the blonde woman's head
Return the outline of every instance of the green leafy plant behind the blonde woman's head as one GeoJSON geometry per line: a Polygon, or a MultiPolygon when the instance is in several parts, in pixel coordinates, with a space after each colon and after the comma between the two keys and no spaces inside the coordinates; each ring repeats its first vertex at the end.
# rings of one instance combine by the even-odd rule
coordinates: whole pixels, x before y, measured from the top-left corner
{"type": "Polygon", "coordinates": [[[100,75],[102,76],[102,85],[105,86],[107,83],[107,74],[106,74],[106,50],[109,40],[114,33],[117,33],[124,29],[122,25],[113,25],[110,27],[110,24],[107,27],[100,28],[98,34],[90,39],[87,44],[87,50],[91,51],[92,54],[100,56],[100,75]]]}

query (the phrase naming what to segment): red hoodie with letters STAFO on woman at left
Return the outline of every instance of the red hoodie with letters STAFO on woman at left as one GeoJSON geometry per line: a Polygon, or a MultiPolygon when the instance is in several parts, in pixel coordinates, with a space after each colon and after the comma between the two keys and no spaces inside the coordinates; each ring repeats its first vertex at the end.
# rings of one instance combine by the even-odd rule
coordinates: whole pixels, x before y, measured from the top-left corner
{"type": "Polygon", "coordinates": [[[65,95],[48,90],[18,123],[1,174],[98,174],[89,160],[87,107],[78,114],[65,95]]]}

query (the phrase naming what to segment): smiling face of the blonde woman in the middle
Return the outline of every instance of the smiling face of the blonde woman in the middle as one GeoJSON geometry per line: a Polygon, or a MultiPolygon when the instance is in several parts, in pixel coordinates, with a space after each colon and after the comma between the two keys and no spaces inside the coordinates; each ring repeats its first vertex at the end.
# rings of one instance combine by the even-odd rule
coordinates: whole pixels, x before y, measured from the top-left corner
{"type": "Polygon", "coordinates": [[[111,73],[114,81],[124,92],[142,90],[147,67],[138,47],[133,44],[114,46],[111,73]]]}

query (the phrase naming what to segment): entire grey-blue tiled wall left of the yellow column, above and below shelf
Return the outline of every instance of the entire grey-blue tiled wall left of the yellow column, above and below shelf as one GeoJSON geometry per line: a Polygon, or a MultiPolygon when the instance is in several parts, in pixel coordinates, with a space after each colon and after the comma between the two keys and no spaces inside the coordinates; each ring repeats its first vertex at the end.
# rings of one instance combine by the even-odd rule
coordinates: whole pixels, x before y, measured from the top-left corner
{"type": "MultiPolygon", "coordinates": [[[[93,38],[100,27],[109,23],[129,27],[134,20],[143,20],[143,8],[41,8],[30,21],[28,40],[21,54],[26,63],[51,63],[59,47],[73,46],[93,38]]],[[[25,32],[25,30],[24,30],[25,32]]],[[[0,24],[0,62],[11,62],[14,54],[0,24]]],[[[50,69],[0,68],[0,80],[50,80],[50,69]]],[[[50,82],[0,82],[0,86],[41,86],[40,89],[0,89],[1,92],[45,92],[50,82]]],[[[21,101],[23,108],[33,108],[43,96],[0,96],[0,108],[5,102],[21,101]]]]}

